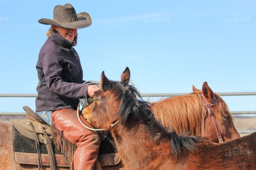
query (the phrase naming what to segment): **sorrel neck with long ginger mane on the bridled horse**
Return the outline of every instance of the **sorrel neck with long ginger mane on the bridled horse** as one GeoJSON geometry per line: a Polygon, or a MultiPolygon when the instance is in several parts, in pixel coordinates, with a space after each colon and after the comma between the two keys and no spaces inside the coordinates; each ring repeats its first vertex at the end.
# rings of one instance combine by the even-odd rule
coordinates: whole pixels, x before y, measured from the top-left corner
{"type": "Polygon", "coordinates": [[[165,127],[179,135],[201,135],[203,131],[205,111],[198,94],[160,100],[152,103],[152,111],[165,127]]]}

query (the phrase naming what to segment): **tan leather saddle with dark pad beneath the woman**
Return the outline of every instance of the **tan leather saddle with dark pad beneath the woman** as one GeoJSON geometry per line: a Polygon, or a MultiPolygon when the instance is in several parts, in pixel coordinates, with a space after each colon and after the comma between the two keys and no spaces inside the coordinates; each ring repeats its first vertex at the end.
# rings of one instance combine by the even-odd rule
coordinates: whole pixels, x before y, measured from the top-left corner
{"type": "MultiPolygon", "coordinates": [[[[19,164],[70,167],[69,161],[53,145],[51,126],[46,124],[28,106],[24,106],[27,119],[11,119],[13,125],[13,159],[19,164]]],[[[120,155],[110,134],[102,140],[99,148],[98,160],[100,166],[116,165],[120,162],[120,155]]]]}

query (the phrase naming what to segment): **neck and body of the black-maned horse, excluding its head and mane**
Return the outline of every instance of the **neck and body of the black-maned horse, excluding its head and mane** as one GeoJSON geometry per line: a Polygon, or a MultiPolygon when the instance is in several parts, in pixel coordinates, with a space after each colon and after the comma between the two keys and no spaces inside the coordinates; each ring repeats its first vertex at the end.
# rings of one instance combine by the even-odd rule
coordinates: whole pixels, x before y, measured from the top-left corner
{"type": "MultiPolygon", "coordinates": [[[[131,121],[134,122],[134,120],[131,121]]],[[[186,137],[184,139],[175,134],[170,137],[170,134],[157,122],[152,122],[151,125],[139,122],[133,124],[133,128],[129,128],[128,124],[131,121],[123,125],[127,128],[117,124],[110,130],[115,136],[115,141],[117,140],[118,151],[127,169],[256,168],[256,133],[220,145],[202,138],[186,137]],[[152,131],[152,133],[146,134],[146,131],[152,131]],[[173,148],[180,147],[179,143],[172,144],[176,140],[180,140],[182,144],[177,156],[173,148]],[[187,149],[185,145],[191,149],[187,149]]]]}

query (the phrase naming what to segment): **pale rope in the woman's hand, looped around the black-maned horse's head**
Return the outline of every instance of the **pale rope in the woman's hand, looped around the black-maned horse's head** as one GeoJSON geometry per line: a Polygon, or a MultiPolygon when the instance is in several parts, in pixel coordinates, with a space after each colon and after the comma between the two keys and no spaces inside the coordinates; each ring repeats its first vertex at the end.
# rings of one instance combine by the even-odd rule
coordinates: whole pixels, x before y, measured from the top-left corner
{"type": "MultiPolygon", "coordinates": [[[[134,83],[134,84],[137,86],[137,88],[138,88],[138,93],[139,93],[139,86],[138,86],[138,84],[136,84],[134,81],[129,81],[129,82],[134,83]]],[[[83,84],[88,84],[88,86],[89,86],[89,85],[96,85],[98,88],[100,88],[100,87],[99,87],[99,86],[100,86],[100,82],[99,82],[99,81],[90,80],[90,81],[85,81],[83,84]]],[[[138,97],[138,96],[137,96],[137,97],[138,97]]],[[[80,101],[80,102],[78,103],[78,106],[77,106],[77,118],[78,118],[79,122],[80,122],[84,127],[86,127],[87,129],[89,129],[89,130],[95,130],[95,131],[107,130],[107,129],[93,129],[93,128],[87,127],[87,126],[82,122],[82,120],[80,119],[80,116],[79,116],[79,107],[80,107],[80,105],[81,105],[82,108],[84,109],[85,106],[88,106],[89,104],[88,104],[87,99],[79,99],[79,101],[80,101]]],[[[118,122],[118,120],[117,120],[115,123],[111,123],[110,126],[113,127],[114,125],[117,124],[117,122],[118,122]]]]}

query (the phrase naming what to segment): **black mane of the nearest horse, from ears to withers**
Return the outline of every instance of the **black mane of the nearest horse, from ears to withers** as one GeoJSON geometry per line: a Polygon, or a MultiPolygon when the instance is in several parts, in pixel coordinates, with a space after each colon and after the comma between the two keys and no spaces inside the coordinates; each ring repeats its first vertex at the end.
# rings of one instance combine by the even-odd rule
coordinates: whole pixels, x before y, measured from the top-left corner
{"type": "Polygon", "coordinates": [[[130,86],[125,81],[112,81],[113,86],[119,87],[120,93],[117,98],[121,99],[118,109],[120,114],[120,123],[124,124],[131,114],[134,118],[142,123],[149,125],[149,130],[154,129],[155,132],[163,132],[164,136],[169,136],[171,139],[171,147],[175,156],[180,156],[182,149],[188,149],[194,152],[196,149],[195,141],[198,141],[196,136],[179,136],[175,131],[170,132],[160,122],[158,122],[152,114],[151,104],[144,101],[138,91],[130,86]]]}

